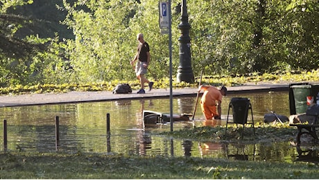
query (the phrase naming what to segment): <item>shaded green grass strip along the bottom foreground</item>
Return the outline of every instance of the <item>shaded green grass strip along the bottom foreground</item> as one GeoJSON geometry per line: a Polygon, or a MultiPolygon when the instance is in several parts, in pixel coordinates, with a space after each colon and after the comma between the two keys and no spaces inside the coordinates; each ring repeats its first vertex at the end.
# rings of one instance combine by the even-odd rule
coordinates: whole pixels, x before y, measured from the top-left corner
{"type": "Polygon", "coordinates": [[[1,179],[318,179],[318,165],[103,154],[0,154],[1,179]]]}

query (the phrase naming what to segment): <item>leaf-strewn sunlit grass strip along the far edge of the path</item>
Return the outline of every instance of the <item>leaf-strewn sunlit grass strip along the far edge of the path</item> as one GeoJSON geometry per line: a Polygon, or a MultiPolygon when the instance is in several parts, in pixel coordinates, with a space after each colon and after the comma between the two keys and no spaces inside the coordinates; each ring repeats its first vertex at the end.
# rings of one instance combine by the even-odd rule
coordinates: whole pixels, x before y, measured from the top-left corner
{"type": "MultiPolygon", "coordinates": [[[[227,87],[236,87],[244,83],[253,82],[302,82],[302,81],[319,81],[319,70],[305,71],[298,74],[293,73],[264,73],[262,75],[252,74],[250,76],[224,77],[219,75],[204,75],[202,84],[211,84],[213,86],[225,85],[227,87]]],[[[173,88],[197,88],[199,78],[195,82],[177,82],[173,79],[173,88]]],[[[112,91],[117,84],[128,83],[132,89],[139,89],[138,80],[112,80],[110,82],[89,82],[83,84],[35,84],[21,85],[17,84],[12,87],[1,87],[0,94],[23,94],[23,93],[63,93],[68,91],[112,91]]],[[[154,89],[168,89],[170,84],[169,78],[163,78],[154,81],[154,89]]]]}

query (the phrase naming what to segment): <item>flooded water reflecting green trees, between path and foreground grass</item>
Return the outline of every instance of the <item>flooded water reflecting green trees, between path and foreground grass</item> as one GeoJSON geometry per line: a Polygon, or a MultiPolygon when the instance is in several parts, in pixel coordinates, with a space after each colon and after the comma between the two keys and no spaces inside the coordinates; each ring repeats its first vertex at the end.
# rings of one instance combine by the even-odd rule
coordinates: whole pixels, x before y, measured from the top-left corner
{"type": "MultiPolygon", "coordinates": [[[[255,123],[264,123],[268,109],[289,116],[288,93],[241,94],[250,98],[254,107],[255,123]]],[[[230,95],[223,98],[222,109],[227,112],[230,95]]],[[[195,97],[173,99],[174,114],[192,114],[195,97]]],[[[200,109],[198,105],[197,109],[200,109]]],[[[223,144],[218,142],[190,141],[155,136],[155,132],[170,131],[169,125],[144,128],[143,110],[169,112],[168,98],[117,100],[114,102],[87,102],[63,105],[2,107],[0,119],[8,123],[9,151],[55,151],[55,116],[60,117],[60,147],[62,152],[98,152],[138,156],[195,156],[221,157],[248,161],[292,161],[305,156],[318,156],[315,150],[302,152],[290,142],[259,144],[223,144]],[[110,114],[110,134],[107,134],[106,115],[110,114]],[[310,155],[309,155],[310,154],[310,155]]],[[[225,125],[221,120],[205,121],[196,111],[196,127],[225,125]]],[[[3,125],[0,123],[0,132],[3,125]]],[[[174,131],[192,128],[192,122],[175,123],[174,131]]],[[[296,129],[297,131],[297,129],[296,129]]],[[[3,151],[3,133],[0,134],[0,151],[3,151]]],[[[303,150],[307,151],[307,150],[303,150]]]]}

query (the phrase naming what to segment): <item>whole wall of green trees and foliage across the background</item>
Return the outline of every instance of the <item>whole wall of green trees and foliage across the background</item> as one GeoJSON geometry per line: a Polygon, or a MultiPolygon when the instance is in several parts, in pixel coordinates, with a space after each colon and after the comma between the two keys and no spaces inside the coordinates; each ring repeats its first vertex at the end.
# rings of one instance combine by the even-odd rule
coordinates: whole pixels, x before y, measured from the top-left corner
{"type": "MultiPolygon", "coordinates": [[[[56,7],[54,0],[37,2],[50,10],[52,6],[58,8],[61,13],[57,19],[66,15],[62,24],[68,26],[73,35],[65,37],[72,38],[56,34],[55,37],[50,35],[51,39],[41,37],[41,41],[38,35],[28,35],[21,43],[17,39],[20,29],[33,30],[27,25],[31,22],[42,24],[46,17],[8,16],[6,10],[32,2],[1,1],[3,28],[0,31],[8,40],[0,41],[1,86],[135,80],[129,62],[136,53],[137,33],[144,33],[150,44],[148,78],[154,81],[169,78],[169,38],[160,34],[158,1],[64,0],[56,7]],[[15,19],[13,22],[17,23],[8,19],[15,19]],[[3,42],[10,42],[14,48],[6,48],[3,42]],[[41,46],[26,48],[35,42],[41,46]],[[21,53],[19,58],[17,53],[21,53]]],[[[180,64],[180,4],[173,1],[171,7],[175,76],[180,64]]],[[[197,76],[202,70],[209,75],[241,77],[318,69],[319,6],[316,1],[189,0],[187,8],[191,25],[191,65],[197,76]]],[[[226,79],[223,84],[232,82],[226,79]]]]}

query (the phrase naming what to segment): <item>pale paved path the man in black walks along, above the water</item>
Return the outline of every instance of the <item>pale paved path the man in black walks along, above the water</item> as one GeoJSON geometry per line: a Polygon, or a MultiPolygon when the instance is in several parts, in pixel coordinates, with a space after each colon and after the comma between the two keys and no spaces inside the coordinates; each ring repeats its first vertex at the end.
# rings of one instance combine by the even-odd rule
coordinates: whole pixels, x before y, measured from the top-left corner
{"type": "MultiPolygon", "coordinates": [[[[287,91],[288,83],[272,84],[262,82],[259,84],[244,84],[239,87],[227,87],[228,94],[252,93],[261,91],[287,91]]],[[[173,89],[173,96],[196,96],[197,89],[183,88],[173,89]]],[[[58,103],[94,102],[105,100],[135,99],[135,98],[159,98],[170,96],[170,89],[153,89],[145,94],[137,94],[137,90],[130,94],[113,94],[112,91],[71,91],[68,93],[42,93],[24,94],[19,96],[0,96],[0,107],[24,106],[24,105],[47,105],[58,103]]]]}

